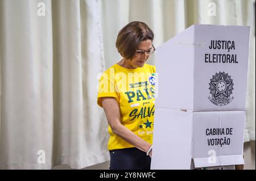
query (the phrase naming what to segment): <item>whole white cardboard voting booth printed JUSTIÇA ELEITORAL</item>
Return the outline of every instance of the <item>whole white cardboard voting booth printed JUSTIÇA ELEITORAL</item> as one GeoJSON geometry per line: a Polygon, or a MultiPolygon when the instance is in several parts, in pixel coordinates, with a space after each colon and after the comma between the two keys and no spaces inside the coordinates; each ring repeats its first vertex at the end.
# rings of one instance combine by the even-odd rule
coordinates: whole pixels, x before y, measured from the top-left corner
{"type": "Polygon", "coordinates": [[[151,169],[244,163],[249,31],[193,25],[156,49],[151,169]]]}

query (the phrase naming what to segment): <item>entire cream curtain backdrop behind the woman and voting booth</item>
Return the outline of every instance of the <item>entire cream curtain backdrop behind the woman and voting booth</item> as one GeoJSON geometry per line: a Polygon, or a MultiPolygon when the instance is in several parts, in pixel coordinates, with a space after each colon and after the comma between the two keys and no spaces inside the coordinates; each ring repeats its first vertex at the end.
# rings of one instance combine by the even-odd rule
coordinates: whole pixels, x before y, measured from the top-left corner
{"type": "Polygon", "coordinates": [[[255,140],[254,3],[0,0],[0,169],[109,160],[97,78],[121,58],[115,39],[133,20],[152,28],[155,47],[192,24],[251,26],[245,141],[255,140]]]}

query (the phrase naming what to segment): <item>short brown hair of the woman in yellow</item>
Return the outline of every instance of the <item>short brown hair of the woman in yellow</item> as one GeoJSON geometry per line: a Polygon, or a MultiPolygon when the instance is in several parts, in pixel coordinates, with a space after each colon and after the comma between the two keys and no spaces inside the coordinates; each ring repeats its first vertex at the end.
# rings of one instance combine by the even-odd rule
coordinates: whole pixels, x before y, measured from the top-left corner
{"type": "Polygon", "coordinates": [[[154,33],[143,22],[131,22],[123,27],[117,36],[115,47],[122,57],[130,59],[134,56],[139,43],[143,40],[153,40],[154,33]]]}

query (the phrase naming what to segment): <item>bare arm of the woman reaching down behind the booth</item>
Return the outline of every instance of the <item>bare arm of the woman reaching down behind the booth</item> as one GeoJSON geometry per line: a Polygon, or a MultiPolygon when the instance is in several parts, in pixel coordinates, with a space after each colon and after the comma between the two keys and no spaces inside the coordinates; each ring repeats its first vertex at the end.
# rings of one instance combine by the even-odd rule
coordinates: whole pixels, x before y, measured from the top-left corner
{"type": "Polygon", "coordinates": [[[121,124],[120,106],[117,100],[105,97],[101,98],[101,103],[112,132],[129,144],[147,153],[151,145],[121,124]]]}

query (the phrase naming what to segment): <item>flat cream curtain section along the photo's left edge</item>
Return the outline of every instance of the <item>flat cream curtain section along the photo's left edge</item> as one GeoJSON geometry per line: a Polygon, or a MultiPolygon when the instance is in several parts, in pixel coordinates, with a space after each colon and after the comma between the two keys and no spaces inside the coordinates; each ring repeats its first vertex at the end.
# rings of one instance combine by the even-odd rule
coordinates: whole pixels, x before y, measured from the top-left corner
{"type": "MultiPolygon", "coordinates": [[[[51,9],[47,1],[47,9],[51,9]]],[[[1,169],[46,169],[52,150],[52,31],[35,1],[0,1],[1,169]],[[10,14],[11,12],[11,14],[10,14]],[[42,36],[43,35],[43,36],[42,36]],[[38,150],[46,163],[37,163],[38,150]]]]}

